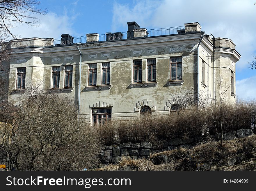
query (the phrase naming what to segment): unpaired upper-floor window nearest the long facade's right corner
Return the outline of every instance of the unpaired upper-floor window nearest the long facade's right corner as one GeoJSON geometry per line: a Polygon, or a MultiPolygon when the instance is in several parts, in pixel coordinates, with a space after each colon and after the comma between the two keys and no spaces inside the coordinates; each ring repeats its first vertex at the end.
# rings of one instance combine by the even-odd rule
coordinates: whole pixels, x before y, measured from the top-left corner
{"type": "Polygon", "coordinates": [[[171,58],[171,80],[182,80],[182,57],[171,58]]]}

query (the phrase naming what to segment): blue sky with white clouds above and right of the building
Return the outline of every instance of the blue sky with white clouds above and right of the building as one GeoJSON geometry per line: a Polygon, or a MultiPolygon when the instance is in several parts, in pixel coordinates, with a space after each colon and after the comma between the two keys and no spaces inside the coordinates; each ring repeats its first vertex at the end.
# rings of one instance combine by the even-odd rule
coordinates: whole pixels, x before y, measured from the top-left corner
{"type": "Polygon", "coordinates": [[[61,38],[86,33],[105,34],[125,32],[127,22],[136,21],[141,27],[164,28],[199,22],[202,31],[215,37],[230,38],[241,54],[236,64],[236,93],[238,98],[256,98],[256,70],[247,61],[256,55],[256,0],[144,0],[144,1],[86,1],[41,0],[40,7],[47,15],[38,27],[17,25],[13,33],[21,38],[61,38]]]}

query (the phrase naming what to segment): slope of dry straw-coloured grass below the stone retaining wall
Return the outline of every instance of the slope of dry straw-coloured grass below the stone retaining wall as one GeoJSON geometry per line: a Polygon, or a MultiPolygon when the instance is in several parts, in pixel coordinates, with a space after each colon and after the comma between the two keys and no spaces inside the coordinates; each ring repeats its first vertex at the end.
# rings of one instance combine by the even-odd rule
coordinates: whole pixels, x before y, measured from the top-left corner
{"type": "Polygon", "coordinates": [[[205,142],[192,149],[173,149],[149,158],[120,162],[97,170],[256,170],[256,135],[242,139],[205,142]]]}

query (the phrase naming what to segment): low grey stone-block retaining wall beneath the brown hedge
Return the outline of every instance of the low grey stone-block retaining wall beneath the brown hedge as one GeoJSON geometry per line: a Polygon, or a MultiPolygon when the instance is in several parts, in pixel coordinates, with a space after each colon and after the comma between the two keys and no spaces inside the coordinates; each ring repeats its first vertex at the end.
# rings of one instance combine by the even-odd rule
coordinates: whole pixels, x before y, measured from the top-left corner
{"type": "MultiPolygon", "coordinates": [[[[240,129],[237,132],[230,132],[223,134],[223,140],[232,140],[235,138],[244,138],[249,135],[252,135],[253,131],[251,129],[240,129]]],[[[219,134],[219,138],[221,134],[219,134]]],[[[104,146],[101,149],[100,158],[102,164],[108,163],[117,163],[121,156],[129,156],[131,159],[138,159],[138,158],[147,158],[150,156],[151,153],[158,153],[162,151],[177,149],[180,147],[183,148],[192,148],[198,144],[202,144],[205,141],[214,141],[218,140],[218,136],[198,136],[188,139],[179,139],[174,138],[166,141],[160,142],[139,142],[139,143],[122,143],[118,145],[111,145],[111,146],[104,146]]],[[[102,166],[102,165],[100,165],[102,166]]],[[[100,167],[99,166],[99,167],[100,167]]]]}

